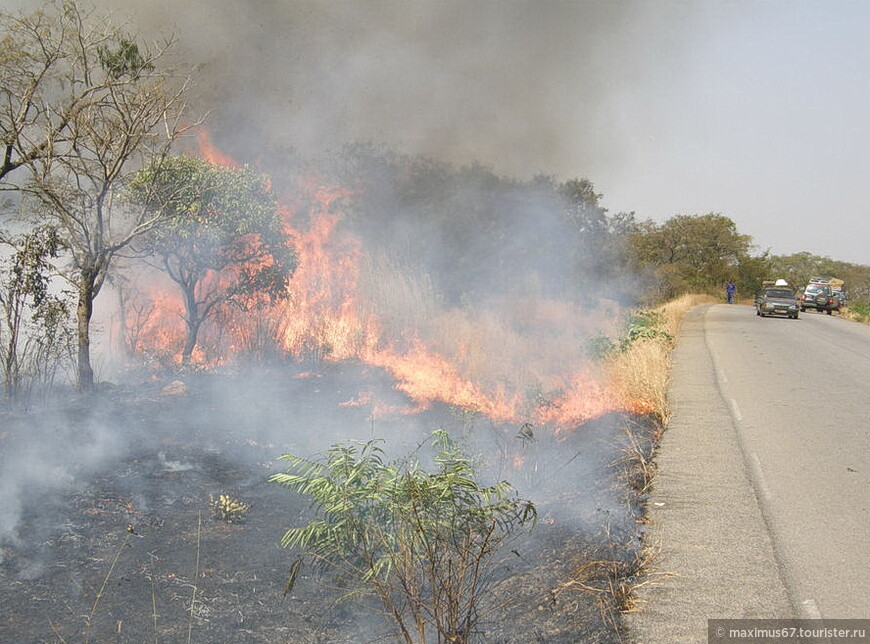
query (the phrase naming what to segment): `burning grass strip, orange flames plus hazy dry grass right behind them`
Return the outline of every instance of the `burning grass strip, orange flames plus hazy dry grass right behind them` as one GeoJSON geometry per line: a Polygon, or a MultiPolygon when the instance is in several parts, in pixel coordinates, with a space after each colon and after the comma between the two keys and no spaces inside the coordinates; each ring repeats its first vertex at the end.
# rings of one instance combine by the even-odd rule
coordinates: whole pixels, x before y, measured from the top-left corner
{"type": "MultiPolygon", "coordinates": [[[[207,141],[201,145],[208,158],[233,164],[207,141]]],[[[408,249],[384,247],[365,234],[354,213],[358,197],[337,181],[308,177],[281,199],[285,231],[298,255],[287,297],[244,310],[215,309],[198,331],[197,368],[266,356],[360,360],[388,371],[411,399],[411,410],[445,403],[494,422],[571,426],[611,411],[648,410],[650,404],[618,395],[585,354],[590,334],[612,332],[614,304],[583,299],[581,305],[576,293],[558,299],[537,274],[522,284],[498,280],[489,290],[472,286],[471,274],[468,284],[445,286],[444,276],[433,275],[433,267],[408,249]],[[458,295],[440,292],[438,284],[458,295]]],[[[511,222],[518,215],[502,216],[511,222]]],[[[490,245],[483,247],[493,252],[490,245]]],[[[496,253],[492,261],[500,257],[496,253]]],[[[475,258],[474,272],[487,261],[475,258]]],[[[116,336],[135,338],[129,349],[171,367],[182,354],[180,296],[152,286],[145,299],[125,307],[124,329],[116,336]]]]}

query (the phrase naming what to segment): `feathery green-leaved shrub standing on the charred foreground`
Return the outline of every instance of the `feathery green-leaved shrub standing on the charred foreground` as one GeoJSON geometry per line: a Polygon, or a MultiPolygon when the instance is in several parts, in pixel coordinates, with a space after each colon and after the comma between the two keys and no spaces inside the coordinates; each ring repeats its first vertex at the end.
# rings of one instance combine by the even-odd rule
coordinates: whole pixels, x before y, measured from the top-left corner
{"type": "Polygon", "coordinates": [[[348,595],[368,592],[407,644],[469,642],[482,616],[493,559],[536,519],[507,482],[481,486],[471,461],[444,431],[434,434],[437,470],[386,463],[375,441],[335,445],[325,462],[290,454],[271,480],[311,498],[318,517],[292,528],[300,548],[335,573],[348,595]]]}

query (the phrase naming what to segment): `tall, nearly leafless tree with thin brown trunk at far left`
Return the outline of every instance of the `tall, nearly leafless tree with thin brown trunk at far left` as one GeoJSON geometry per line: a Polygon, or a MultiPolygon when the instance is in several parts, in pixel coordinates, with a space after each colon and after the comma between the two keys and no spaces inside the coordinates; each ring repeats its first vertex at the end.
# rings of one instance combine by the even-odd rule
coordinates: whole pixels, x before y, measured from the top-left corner
{"type": "Polygon", "coordinates": [[[2,24],[9,47],[0,57],[0,177],[31,170],[29,182],[15,187],[68,246],[78,297],[78,384],[88,392],[94,300],[115,256],[159,220],[116,195],[135,171],[164,158],[183,131],[187,80],[175,82],[171,70],[158,67],[171,39],[141,47],[73,1],[4,16],[2,24]]]}

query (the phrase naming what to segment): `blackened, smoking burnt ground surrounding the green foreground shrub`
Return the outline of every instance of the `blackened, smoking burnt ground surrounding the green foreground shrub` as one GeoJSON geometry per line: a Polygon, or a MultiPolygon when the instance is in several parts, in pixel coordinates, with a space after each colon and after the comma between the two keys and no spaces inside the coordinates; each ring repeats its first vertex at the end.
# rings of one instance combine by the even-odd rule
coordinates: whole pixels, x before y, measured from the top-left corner
{"type": "Polygon", "coordinates": [[[643,529],[628,433],[648,456],[654,420],[608,414],[532,438],[446,407],[373,420],[353,404],[360,382],[407,401],[360,365],[181,380],[0,412],[0,641],[398,641],[304,566],[284,595],[296,555],[279,540],[309,507],[267,479],[288,451],[377,436],[401,456],[437,428],[464,436],[482,476],[510,481],[539,513],[494,569],[477,641],[622,641],[643,529]],[[219,494],[251,504],[243,522],[212,515],[219,494]]]}

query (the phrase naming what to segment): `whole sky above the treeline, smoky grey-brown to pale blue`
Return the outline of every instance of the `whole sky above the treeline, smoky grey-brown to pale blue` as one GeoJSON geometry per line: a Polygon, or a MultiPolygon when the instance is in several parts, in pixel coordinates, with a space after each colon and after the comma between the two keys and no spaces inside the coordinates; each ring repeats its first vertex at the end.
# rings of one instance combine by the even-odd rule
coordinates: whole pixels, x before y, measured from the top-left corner
{"type": "Polygon", "coordinates": [[[377,141],[585,177],[611,213],[716,212],[759,251],[870,265],[870,2],[94,4],[177,33],[233,153],[377,141]]]}

